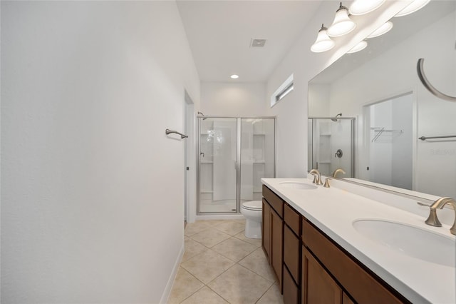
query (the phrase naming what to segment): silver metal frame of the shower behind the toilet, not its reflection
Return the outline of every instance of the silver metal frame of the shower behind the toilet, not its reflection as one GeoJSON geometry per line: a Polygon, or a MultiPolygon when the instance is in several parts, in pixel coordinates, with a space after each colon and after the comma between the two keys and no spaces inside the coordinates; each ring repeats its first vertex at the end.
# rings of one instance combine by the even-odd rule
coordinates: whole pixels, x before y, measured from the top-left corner
{"type": "MultiPolygon", "coordinates": [[[[272,118],[274,119],[274,164],[273,164],[273,178],[276,177],[276,134],[277,134],[277,119],[276,116],[209,116],[209,115],[198,115],[197,116],[197,216],[210,216],[210,215],[237,215],[241,213],[241,136],[242,136],[242,119],[255,119],[255,118],[272,118]],[[236,138],[236,211],[235,212],[202,212],[200,211],[200,196],[201,196],[201,122],[202,118],[236,118],[237,138],[236,138]]],[[[214,178],[214,177],[212,177],[214,178]]]]}

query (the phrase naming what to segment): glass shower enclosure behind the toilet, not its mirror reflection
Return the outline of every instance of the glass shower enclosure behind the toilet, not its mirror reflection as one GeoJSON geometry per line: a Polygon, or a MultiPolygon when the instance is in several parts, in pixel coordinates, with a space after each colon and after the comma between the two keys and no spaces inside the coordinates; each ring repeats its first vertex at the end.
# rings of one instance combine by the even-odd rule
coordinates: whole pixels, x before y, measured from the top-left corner
{"type": "Polygon", "coordinates": [[[275,176],[276,118],[198,118],[197,214],[239,213],[275,176]]]}

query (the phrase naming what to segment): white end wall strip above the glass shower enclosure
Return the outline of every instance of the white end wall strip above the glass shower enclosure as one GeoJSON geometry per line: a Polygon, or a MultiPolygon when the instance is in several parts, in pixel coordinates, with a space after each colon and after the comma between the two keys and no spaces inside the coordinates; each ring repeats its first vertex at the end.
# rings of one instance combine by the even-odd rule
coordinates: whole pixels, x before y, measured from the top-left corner
{"type": "Polygon", "coordinates": [[[265,91],[265,83],[202,82],[199,111],[209,116],[264,116],[265,91]]]}

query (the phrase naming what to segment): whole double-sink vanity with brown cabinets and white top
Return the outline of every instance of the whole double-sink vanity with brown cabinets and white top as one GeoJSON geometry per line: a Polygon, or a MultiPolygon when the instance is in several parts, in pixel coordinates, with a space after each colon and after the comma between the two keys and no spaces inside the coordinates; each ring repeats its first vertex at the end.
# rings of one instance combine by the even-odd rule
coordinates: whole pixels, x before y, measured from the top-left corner
{"type": "Polygon", "coordinates": [[[402,238],[402,225],[412,227],[406,238],[419,229],[456,245],[449,226],[306,178],[262,182],[262,246],[284,303],[455,303],[454,260],[411,256],[366,233],[402,238]]]}

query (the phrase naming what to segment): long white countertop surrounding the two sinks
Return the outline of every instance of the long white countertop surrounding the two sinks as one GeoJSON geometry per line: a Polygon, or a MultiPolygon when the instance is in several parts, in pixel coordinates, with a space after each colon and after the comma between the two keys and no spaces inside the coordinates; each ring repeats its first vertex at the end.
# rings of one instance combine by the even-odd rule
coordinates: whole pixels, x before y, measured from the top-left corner
{"type": "MultiPolygon", "coordinates": [[[[425,218],[415,213],[335,187],[303,190],[280,185],[284,181],[312,184],[307,178],[261,178],[261,181],[411,302],[456,303],[456,268],[391,250],[358,233],[352,223],[360,218],[396,221],[445,235],[456,244],[450,226],[428,226],[425,218]]],[[[435,258],[439,258],[438,252],[435,258]]]]}

